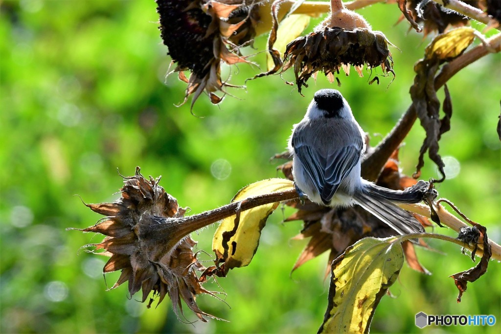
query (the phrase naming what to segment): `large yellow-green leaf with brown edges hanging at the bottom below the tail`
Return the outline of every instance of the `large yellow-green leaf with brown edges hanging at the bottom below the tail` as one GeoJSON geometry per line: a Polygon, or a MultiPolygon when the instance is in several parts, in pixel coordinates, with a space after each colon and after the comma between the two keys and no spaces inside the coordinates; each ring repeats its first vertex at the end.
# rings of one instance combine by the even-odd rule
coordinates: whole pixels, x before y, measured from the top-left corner
{"type": "Polygon", "coordinates": [[[398,277],[404,255],[399,239],[364,238],[332,262],[329,305],[319,332],[368,332],[374,310],[398,277]]]}

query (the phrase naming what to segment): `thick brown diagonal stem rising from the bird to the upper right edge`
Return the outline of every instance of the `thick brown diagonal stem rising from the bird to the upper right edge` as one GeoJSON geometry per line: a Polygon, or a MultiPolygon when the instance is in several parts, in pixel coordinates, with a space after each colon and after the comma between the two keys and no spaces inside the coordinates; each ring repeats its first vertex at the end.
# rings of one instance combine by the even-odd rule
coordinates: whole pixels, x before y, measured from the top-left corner
{"type": "MultiPolygon", "coordinates": [[[[491,52],[501,51],[501,34],[492,36],[482,41],[482,44],[476,46],[468,52],[457,57],[450,63],[443,66],[440,73],[435,77],[435,90],[442,87],[459,70],[469,64],[477,61],[491,52]]],[[[383,140],[374,148],[372,153],[362,162],[362,175],[369,181],[374,181],[379,177],[386,161],[405,139],[410,129],[417,119],[417,112],[414,105],[410,105],[407,111],[402,115],[395,127],[383,140]]]]}

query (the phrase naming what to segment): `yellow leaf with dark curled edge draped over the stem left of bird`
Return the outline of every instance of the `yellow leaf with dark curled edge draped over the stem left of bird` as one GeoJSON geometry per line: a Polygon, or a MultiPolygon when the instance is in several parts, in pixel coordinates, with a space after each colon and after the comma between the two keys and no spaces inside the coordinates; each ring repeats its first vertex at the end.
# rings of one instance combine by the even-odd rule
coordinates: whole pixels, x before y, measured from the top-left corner
{"type": "MultiPolygon", "coordinates": [[[[291,189],[294,189],[294,183],[290,180],[267,179],[246,186],[235,195],[231,202],[291,189]]],[[[268,216],[278,205],[279,202],[261,205],[222,220],[214,233],[212,249],[218,259],[225,262],[226,272],[231,268],[246,266],[250,263],[258,249],[261,230],[268,216]]]]}

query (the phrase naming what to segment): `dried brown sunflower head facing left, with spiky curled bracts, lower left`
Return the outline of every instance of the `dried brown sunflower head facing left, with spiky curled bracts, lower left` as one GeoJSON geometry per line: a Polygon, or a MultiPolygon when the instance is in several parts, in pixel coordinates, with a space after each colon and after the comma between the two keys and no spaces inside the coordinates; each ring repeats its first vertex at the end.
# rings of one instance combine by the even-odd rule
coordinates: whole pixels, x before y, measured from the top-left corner
{"type": "Polygon", "coordinates": [[[79,229],[106,235],[91,252],[109,256],[103,272],[121,270],[116,288],[129,282],[132,296],[142,289],[142,301],[153,291],[160,303],[169,295],[174,311],[182,313],[181,300],[203,321],[213,317],[198,308],[197,294],[210,294],[202,287],[197,272],[205,267],[197,260],[193,241],[185,225],[178,222],[185,209],[158,185],[160,178],[146,180],[139,168],[132,177],[124,177],[122,196],[113,203],[86,204],[91,210],[106,216],[96,225],[79,229]],[[102,251],[100,251],[102,250],[102,251]]]}

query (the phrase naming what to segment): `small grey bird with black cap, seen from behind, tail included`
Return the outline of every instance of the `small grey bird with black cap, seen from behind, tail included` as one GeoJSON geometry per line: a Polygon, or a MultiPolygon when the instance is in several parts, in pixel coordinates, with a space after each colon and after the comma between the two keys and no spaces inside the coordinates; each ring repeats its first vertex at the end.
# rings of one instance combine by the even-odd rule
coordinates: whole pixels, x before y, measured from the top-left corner
{"type": "Polygon", "coordinates": [[[360,176],[364,136],[339,91],[316,92],[305,117],[294,125],[289,138],[298,192],[330,207],[358,204],[400,234],[424,232],[410,213],[392,202],[420,202],[428,182],[419,181],[398,191],[364,180],[360,176]]]}

